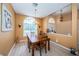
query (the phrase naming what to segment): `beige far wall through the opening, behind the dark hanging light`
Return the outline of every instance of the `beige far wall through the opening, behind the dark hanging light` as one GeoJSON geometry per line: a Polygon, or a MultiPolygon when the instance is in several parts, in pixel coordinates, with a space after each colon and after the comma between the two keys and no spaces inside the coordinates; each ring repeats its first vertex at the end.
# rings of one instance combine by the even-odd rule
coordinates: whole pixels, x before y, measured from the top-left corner
{"type": "Polygon", "coordinates": [[[55,16],[55,22],[56,22],[56,33],[59,34],[72,34],[72,14],[71,13],[65,13],[63,14],[63,21],[60,21],[59,16],[55,16]]]}

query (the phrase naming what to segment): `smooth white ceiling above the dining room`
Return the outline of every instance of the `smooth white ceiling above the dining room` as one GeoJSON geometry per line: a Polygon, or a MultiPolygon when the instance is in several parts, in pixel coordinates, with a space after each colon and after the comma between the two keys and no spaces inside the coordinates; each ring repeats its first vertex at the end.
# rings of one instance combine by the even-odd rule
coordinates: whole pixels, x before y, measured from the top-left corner
{"type": "MultiPolygon", "coordinates": [[[[67,6],[68,3],[38,3],[36,17],[45,17],[67,6]]],[[[14,10],[18,14],[35,17],[35,7],[32,3],[13,3],[14,10]]]]}

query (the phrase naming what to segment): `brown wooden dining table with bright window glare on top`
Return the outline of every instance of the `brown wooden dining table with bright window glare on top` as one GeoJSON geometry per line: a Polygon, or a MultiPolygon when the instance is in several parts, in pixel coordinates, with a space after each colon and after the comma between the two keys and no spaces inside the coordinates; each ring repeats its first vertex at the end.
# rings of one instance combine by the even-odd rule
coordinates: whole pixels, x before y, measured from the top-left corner
{"type": "MultiPolygon", "coordinates": [[[[46,40],[47,41],[48,51],[50,51],[50,39],[49,38],[44,39],[44,38],[45,37],[40,37],[39,35],[38,36],[36,36],[36,35],[30,35],[29,36],[29,42],[32,45],[32,56],[34,56],[34,48],[35,48],[35,45],[37,45],[37,43],[39,43],[39,42],[41,42],[43,40],[46,40]]],[[[29,44],[29,46],[30,46],[30,44],[29,44]]]]}

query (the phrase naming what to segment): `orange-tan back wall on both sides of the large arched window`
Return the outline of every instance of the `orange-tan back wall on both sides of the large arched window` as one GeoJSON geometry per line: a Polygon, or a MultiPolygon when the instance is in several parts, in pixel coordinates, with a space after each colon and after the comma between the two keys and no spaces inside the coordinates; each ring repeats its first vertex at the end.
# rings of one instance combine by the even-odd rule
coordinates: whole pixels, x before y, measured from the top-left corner
{"type": "MultiPolygon", "coordinates": [[[[16,40],[18,38],[23,37],[23,21],[27,18],[25,15],[16,14],[16,40]],[[18,27],[18,24],[21,24],[21,28],[18,27]]],[[[40,26],[39,30],[42,30],[42,22],[41,19],[36,18],[37,25],[40,26]]],[[[23,37],[26,39],[26,37],[23,37]]]]}

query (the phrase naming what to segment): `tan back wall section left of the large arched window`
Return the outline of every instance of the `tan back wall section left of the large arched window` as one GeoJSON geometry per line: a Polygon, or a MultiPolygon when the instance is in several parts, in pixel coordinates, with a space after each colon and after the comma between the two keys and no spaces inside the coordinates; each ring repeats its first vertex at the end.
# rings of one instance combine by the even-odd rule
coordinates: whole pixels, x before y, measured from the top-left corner
{"type": "Polygon", "coordinates": [[[24,15],[16,14],[16,39],[18,37],[23,37],[23,21],[26,18],[24,15]],[[19,28],[18,25],[21,24],[19,28]]]}

